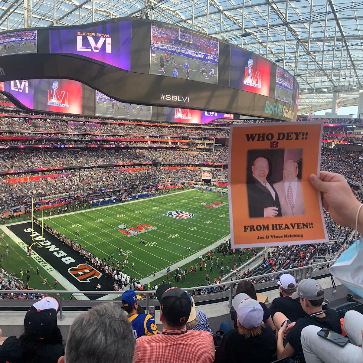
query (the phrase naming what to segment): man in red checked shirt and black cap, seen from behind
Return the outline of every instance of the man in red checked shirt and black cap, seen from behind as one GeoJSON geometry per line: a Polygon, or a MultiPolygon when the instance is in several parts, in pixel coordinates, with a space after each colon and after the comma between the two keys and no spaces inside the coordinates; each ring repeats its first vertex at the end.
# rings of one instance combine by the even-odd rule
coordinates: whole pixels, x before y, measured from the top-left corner
{"type": "Polygon", "coordinates": [[[215,358],[212,334],[186,329],[192,302],[178,287],[160,285],[156,290],[163,333],[136,339],[134,363],[212,363],[215,358]]]}

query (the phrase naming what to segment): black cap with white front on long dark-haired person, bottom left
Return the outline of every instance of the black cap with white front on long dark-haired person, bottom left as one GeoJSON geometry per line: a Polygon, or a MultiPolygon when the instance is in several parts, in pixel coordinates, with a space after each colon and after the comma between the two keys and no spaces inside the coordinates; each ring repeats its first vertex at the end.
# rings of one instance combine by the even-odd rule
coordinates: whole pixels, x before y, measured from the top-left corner
{"type": "Polygon", "coordinates": [[[24,329],[27,334],[39,338],[47,338],[57,328],[58,300],[54,297],[44,297],[35,302],[26,312],[24,329]]]}

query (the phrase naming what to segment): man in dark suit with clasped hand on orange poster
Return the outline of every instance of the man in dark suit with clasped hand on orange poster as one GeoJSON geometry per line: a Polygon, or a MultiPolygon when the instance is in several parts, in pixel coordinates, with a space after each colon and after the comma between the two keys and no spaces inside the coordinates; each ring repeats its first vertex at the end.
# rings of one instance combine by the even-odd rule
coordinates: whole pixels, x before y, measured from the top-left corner
{"type": "Polygon", "coordinates": [[[250,218],[281,217],[280,201],[273,183],[267,180],[269,162],[263,156],[253,160],[252,177],[247,183],[250,218]]]}

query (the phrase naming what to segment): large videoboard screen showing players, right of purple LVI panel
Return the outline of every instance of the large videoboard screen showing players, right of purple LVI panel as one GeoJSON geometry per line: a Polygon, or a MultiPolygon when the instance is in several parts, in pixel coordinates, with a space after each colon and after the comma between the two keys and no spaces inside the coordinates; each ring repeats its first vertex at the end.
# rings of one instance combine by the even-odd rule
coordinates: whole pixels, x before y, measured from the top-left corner
{"type": "Polygon", "coordinates": [[[152,23],[150,74],[217,84],[218,52],[210,37],[152,23]]]}

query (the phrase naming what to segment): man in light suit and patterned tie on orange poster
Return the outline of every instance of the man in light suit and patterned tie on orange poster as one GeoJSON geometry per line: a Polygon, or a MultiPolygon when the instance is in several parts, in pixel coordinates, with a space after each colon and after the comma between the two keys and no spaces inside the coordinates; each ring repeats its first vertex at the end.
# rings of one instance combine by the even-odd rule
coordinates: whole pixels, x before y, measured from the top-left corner
{"type": "Polygon", "coordinates": [[[294,160],[287,160],[284,164],[283,180],[273,185],[280,200],[283,217],[305,215],[301,180],[297,178],[298,172],[298,164],[294,160]]]}

